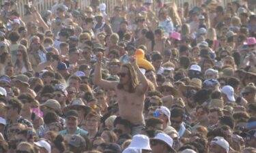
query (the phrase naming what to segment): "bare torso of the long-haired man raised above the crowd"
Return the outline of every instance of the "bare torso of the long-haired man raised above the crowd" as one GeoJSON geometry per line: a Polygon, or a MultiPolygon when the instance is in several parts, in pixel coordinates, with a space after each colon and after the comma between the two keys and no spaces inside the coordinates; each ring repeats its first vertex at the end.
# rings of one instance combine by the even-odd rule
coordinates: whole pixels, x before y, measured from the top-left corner
{"type": "Polygon", "coordinates": [[[132,122],[132,124],[143,124],[145,95],[141,95],[137,90],[134,93],[129,93],[125,90],[120,90],[117,86],[115,86],[115,92],[117,93],[119,115],[132,122]]]}

